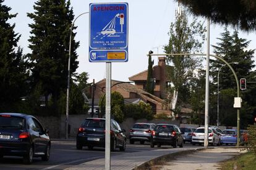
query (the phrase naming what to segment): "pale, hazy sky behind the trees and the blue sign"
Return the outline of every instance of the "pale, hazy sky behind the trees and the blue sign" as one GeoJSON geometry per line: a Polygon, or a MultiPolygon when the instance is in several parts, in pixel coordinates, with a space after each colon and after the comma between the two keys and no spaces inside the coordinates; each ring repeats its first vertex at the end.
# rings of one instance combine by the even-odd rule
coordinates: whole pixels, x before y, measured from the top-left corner
{"type": "MultiPolygon", "coordinates": [[[[5,0],[3,4],[12,8],[11,14],[18,13],[17,17],[12,18],[8,22],[15,23],[15,33],[21,34],[19,46],[23,48],[23,54],[30,51],[28,48],[28,39],[30,36],[29,23],[33,20],[27,17],[28,12],[34,12],[33,5],[35,0],[5,0]]],[[[163,46],[168,44],[169,26],[171,22],[175,21],[175,10],[177,3],[173,0],[126,0],[126,1],[88,1],[88,0],[71,0],[71,7],[73,7],[74,15],[77,17],[83,12],[89,12],[90,3],[98,2],[127,2],[129,4],[129,61],[128,62],[113,62],[111,78],[119,81],[129,81],[129,77],[133,76],[148,67],[148,51],[153,51],[154,54],[163,54],[163,46]]],[[[193,16],[190,16],[193,18],[193,16]]],[[[204,18],[198,18],[204,21],[204,18]]],[[[206,26],[205,20],[205,26],[206,26]]],[[[75,40],[80,42],[80,47],[77,49],[79,68],[77,73],[83,71],[89,74],[89,83],[92,79],[95,82],[106,78],[106,64],[92,63],[88,60],[88,44],[89,44],[89,15],[81,15],[75,21],[77,35],[75,40]]],[[[232,27],[229,30],[233,31],[232,27]]],[[[223,26],[210,25],[210,44],[216,45],[219,42],[220,33],[223,32],[223,26]]],[[[256,49],[256,34],[255,33],[241,33],[240,38],[251,40],[249,49],[256,49]]],[[[206,42],[205,42],[206,44],[206,42]]],[[[210,47],[210,53],[212,52],[210,47]]],[[[203,53],[207,51],[203,47],[203,53]]],[[[158,57],[154,56],[155,65],[158,63],[158,57]]]]}

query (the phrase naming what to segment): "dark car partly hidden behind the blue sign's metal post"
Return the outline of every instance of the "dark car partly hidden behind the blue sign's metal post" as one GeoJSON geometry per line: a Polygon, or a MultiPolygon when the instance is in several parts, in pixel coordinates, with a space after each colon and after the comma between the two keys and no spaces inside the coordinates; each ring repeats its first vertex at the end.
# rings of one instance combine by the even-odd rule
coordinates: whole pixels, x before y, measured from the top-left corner
{"type": "MultiPolygon", "coordinates": [[[[77,133],[77,149],[81,150],[83,146],[87,146],[90,150],[93,147],[105,147],[105,119],[103,118],[87,118],[83,121],[77,133]]],[[[111,151],[119,148],[126,150],[125,130],[121,129],[119,124],[111,119],[111,151]]]]}

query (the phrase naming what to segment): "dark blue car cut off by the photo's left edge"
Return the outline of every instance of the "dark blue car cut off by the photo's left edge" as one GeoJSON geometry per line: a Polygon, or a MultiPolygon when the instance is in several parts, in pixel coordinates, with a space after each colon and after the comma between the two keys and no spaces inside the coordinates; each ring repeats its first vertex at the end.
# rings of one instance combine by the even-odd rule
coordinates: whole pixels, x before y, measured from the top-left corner
{"type": "Polygon", "coordinates": [[[49,160],[51,140],[48,130],[31,115],[0,113],[0,158],[23,156],[31,164],[33,156],[49,160]]]}

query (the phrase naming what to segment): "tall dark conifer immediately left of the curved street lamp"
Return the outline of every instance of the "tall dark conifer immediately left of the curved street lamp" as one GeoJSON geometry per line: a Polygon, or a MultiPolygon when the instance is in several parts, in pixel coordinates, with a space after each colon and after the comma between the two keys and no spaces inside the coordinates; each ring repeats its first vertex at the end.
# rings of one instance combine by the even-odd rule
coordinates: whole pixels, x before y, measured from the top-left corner
{"type": "MultiPolygon", "coordinates": [[[[35,12],[27,14],[34,21],[29,24],[32,36],[28,40],[32,50],[28,55],[32,66],[32,87],[42,86],[41,95],[45,95],[46,107],[49,94],[55,106],[67,86],[69,36],[74,14],[69,0],[39,0],[33,7],[35,12]]],[[[79,42],[75,42],[74,36],[75,33],[71,42],[71,76],[78,65],[75,49],[79,42]]]]}

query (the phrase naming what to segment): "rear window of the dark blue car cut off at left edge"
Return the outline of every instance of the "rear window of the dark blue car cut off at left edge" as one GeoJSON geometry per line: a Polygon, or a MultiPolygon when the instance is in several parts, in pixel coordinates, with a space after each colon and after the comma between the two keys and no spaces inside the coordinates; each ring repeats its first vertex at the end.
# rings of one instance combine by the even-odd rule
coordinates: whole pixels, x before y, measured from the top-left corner
{"type": "Polygon", "coordinates": [[[11,115],[0,115],[0,128],[2,129],[23,129],[24,126],[24,118],[11,115]]]}

